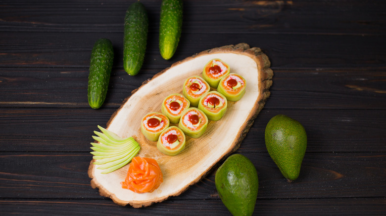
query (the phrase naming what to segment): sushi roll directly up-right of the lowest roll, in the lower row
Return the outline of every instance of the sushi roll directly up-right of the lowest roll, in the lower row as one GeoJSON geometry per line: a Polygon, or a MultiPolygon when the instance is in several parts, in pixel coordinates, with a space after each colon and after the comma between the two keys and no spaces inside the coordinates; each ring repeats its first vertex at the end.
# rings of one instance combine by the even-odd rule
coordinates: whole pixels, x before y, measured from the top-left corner
{"type": "Polygon", "coordinates": [[[208,118],[198,108],[188,108],[182,113],[178,127],[185,135],[192,138],[199,138],[208,126],[208,118]]]}

